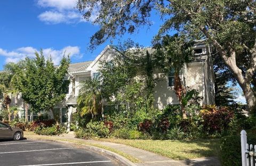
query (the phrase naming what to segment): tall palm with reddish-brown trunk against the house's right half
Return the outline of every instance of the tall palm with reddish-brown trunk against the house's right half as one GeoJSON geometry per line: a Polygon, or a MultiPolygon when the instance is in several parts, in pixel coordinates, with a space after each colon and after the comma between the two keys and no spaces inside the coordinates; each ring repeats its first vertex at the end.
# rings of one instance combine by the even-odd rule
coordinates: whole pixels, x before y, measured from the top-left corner
{"type": "Polygon", "coordinates": [[[174,36],[165,36],[161,45],[157,46],[157,56],[159,64],[164,68],[165,73],[174,73],[174,91],[178,97],[182,117],[187,118],[185,104],[182,102],[183,94],[186,92],[180,78],[180,72],[184,65],[190,62],[191,51],[189,46],[186,46],[178,34],[174,36]]]}

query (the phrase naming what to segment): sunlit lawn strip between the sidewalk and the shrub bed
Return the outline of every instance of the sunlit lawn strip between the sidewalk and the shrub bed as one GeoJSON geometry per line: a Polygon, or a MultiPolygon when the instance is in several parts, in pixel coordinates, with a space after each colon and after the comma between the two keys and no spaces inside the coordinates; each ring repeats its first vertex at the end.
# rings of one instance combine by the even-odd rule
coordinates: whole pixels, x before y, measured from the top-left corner
{"type": "Polygon", "coordinates": [[[193,141],[138,140],[138,139],[97,139],[125,144],[154,152],[173,160],[186,160],[218,156],[220,139],[198,139],[193,141]]]}

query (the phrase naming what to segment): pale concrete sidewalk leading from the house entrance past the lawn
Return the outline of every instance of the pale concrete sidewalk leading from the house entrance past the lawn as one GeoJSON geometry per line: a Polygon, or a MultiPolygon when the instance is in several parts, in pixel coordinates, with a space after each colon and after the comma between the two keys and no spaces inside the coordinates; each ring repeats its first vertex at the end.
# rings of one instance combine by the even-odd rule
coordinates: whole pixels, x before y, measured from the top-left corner
{"type": "Polygon", "coordinates": [[[219,166],[221,165],[217,158],[199,158],[193,160],[185,160],[185,161],[174,161],[164,156],[151,153],[145,150],[141,150],[139,148],[117,144],[117,143],[110,143],[110,142],[101,142],[101,141],[94,141],[94,140],[86,140],[86,139],[79,139],[74,137],[73,132],[69,132],[68,134],[59,136],[62,139],[70,140],[70,141],[83,141],[89,144],[98,144],[113,148],[117,151],[121,151],[125,154],[132,156],[133,158],[138,159],[140,162],[134,163],[134,165],[138,166],[183,166],[183,165],[193,165],[193,166],[219,166]]]}

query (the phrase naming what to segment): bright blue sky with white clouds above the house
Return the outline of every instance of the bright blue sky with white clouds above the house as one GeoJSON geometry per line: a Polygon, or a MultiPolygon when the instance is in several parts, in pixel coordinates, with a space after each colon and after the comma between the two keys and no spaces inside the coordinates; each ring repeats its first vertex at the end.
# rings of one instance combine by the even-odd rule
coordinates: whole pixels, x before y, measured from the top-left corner
{"type": "MultiPolygon", "coordinates": [[[[0,70],[8,62],[33,57],[41,48],[45,56],[52,56],[54,64],[59,63],[64,51],[70,54],[72,63],[93,60],[110,43],[103,43],[93,53],[87,50],[90,37],[99,27],[81,19],[75,4],[76,0],[0,1],[0,70]]],[[[152,20],[150,29],[141,28],[122,40],[132,38],[150,46],[161,24],[157,16],[152,20]]]]}

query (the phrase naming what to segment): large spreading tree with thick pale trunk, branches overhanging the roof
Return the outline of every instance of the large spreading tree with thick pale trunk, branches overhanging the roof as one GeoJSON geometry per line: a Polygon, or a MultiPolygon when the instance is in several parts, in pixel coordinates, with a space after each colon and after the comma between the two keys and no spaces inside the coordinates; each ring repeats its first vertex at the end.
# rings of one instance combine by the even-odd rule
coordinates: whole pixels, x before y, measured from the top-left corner
{"type": "Polygon", "coordinates": [[[256,71],[255,0],[79,0],[77,7],[85,19],[98,13],[94,23],[100,25],[100,30],[91,38],[92,48],[108,38],[132,33],[139,25],[150,24],[150,13],[157,10],[164,23],[154,41],[170,30],[177,30],[187,40],[207,39],[241,86],[249,110],[255,106],[251,86],[256,71]],[[241,67],[240,58],[248,59],[247,65],[241,67]]]}

